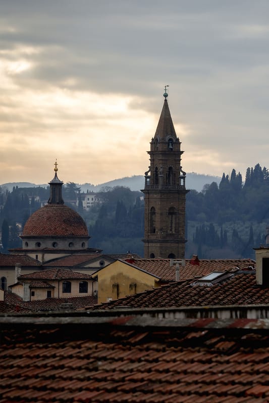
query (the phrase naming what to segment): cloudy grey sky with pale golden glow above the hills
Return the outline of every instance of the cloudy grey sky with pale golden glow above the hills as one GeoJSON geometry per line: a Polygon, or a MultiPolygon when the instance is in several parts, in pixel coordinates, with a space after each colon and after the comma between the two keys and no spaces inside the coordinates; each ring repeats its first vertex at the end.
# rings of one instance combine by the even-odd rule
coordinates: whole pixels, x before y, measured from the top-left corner
{"type": "Polygon", "coordinates": [[[268,84],[267,0],[1,0],[0,183],[144,175],[166,85],[183,170],[244,178],[268,84]]]}

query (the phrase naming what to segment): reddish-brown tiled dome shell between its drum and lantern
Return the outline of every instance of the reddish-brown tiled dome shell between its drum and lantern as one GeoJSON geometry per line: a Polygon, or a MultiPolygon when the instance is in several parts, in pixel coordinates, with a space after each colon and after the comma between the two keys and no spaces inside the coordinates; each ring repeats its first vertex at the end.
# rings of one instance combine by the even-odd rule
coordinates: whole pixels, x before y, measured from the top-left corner
{"type": "Polygon", "coordinates": [[[27,220],[22,236],[86,236],[88,230],[82,217],[65,205],[46,205],[27,220]]]}

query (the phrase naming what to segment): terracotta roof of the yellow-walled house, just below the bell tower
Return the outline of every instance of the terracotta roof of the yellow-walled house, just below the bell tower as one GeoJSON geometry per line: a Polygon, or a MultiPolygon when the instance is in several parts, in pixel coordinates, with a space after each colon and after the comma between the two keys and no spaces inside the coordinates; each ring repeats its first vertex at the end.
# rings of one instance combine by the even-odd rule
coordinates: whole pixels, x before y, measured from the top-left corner
{"type": "MultiPolygon", "coordinates": [[[[162,280],[175,280],[175,266],[170,267],[170,259],[127,258],[125,260],[162,280]]],[[[185,263],[184,267],[180,267],[180,277],[182,280],[202,277],[214,271],[227,271],[236,267],[243,269],[248,266],[255,266],[255,261],[252,259],[199,259],[198,261],[195,260],[195,263],[193,259],[186,259],[185,263]]]]}

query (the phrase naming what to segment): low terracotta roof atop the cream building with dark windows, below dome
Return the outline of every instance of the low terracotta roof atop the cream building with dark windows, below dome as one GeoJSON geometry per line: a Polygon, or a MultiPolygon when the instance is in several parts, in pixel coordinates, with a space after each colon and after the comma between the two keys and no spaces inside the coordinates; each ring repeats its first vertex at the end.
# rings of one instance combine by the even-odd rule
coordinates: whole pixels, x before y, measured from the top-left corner
{"type": "Polygon", "coordinates": [[[91,279],[88,274],[73,272],[72,270],[65,270],[64,268],[50,268],[40,272],[24,274],[18,280],[72,280],[72,279],[91,279]]]}

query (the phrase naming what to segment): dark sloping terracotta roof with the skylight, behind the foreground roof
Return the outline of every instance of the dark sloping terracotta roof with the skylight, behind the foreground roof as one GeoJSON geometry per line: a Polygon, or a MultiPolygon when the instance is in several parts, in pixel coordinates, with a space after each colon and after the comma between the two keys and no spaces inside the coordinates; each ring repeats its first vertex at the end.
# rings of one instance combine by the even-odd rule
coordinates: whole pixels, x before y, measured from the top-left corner
{"type": "Polygon", "coordinates": [[[226,280],[211,286],[197,285],[194,279],[173,283],[104,303],[99,309],[113,309],[122,305],[141,308],[269,304],[269,287],[256,285],[255,271],[232,272],[230,275],[226,280]]]}

